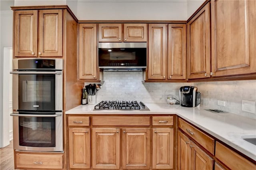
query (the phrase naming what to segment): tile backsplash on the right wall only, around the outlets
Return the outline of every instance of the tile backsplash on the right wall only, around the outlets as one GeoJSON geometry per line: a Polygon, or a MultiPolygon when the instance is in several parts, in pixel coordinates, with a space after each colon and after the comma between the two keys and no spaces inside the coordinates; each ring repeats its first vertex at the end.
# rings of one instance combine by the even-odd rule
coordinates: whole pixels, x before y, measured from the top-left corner
{"type": "Polygon", "coordinates": [[[201,92],[201,105],[256,119],[256,114],[242,111],[242,100],[256,102],[256,80],[194,83],[201,92]],[[217,100],[226,101],[226,107],[217,100]]]}

